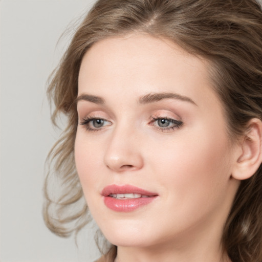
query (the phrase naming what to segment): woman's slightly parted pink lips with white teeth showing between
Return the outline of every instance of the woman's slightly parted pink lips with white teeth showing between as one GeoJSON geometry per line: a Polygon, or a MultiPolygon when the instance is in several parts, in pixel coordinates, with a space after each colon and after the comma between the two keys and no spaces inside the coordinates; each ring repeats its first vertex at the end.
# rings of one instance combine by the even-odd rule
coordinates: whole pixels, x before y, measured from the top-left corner
{"type": "Polygon", "coordinates": [[[158,197],[158,194],[131,186],[106,186],[101,193],[104,204],[118,212],[130,212],[147,205],[158,197]]]}

